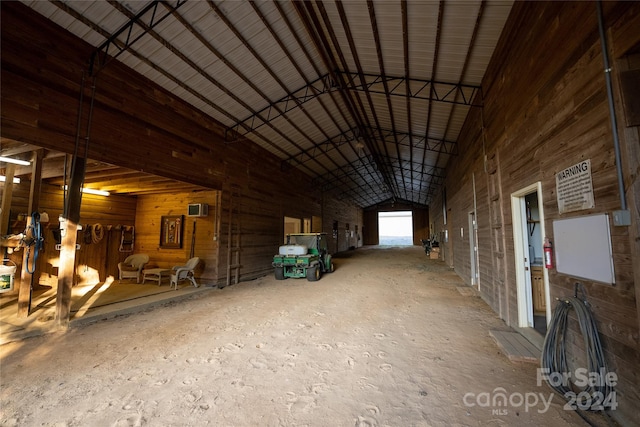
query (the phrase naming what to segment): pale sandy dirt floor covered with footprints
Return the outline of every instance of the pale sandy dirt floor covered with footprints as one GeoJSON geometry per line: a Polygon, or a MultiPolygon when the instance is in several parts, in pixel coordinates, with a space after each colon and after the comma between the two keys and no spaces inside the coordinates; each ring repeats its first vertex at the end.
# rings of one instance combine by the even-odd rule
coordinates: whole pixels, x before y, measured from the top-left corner
{"type": "Polygon", "coordinates": [[[489,331],[505,324],[421,247],[336,266],[5,344],[0,424],[584,425],[535,364],[500,352],[489,331]],[[500,393],[510,403],[491,405],[500,393]]]}

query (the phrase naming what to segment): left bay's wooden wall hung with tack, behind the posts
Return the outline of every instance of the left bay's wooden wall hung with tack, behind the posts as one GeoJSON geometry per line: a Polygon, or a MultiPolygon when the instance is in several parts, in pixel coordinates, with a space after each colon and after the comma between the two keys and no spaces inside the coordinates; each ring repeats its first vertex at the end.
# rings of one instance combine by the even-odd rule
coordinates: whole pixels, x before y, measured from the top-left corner
{"type": "MultiPolygon", "coordinates": [[[[25,221],[19,221],[19,214],[27,214],[29,205],[30,182],[23,180],[14,185],[10,215],[10,233],[18,234],[24,231],[25,221]]],[[[3,189],[3,184],[0,184],[3,189]]],[[[39,252],[36,264],[37,283],[44,286],[57,286],[58,257],[60,252],[55,249],[55,229],[59,229],[58,218],[63,213],[63,192],[59,187],[42,185],[39,212],[49,215],[49,222],[42,223],[44,249],[39,252]]],[[[80,223],[83,230],[78,231],[78,243],[81,245],[76,252],[76,284],[95,284],[107,278],[118,277],[118,262],[124,260],[129,253],[119,251],[121,226],[135,224],[136,198],[112,195],[109,197],[84,194],[80,210],[80,223]],[[98,233],[91,233],[91,227],[99,224],[103,229],[102,239],[98,240],[98,233]]],[[[94,228],[94,230],[97,230],[94,228]]],[[[3,233],[4,234],[4,233],[3,233]]],[[[2,248],[4,250],[4,248],[2,248]]],[[[18,271],[23,268],[23,251],[21,249],[9,255],[9,259],[18,265],[18,271]]],[[[30,264],[30,268],[31,264],[30,264]]],[[[19,278],[16,275],[16,280],[19,278]]],[[[17,282],[14,287],[17,292],[17,282]]]]}

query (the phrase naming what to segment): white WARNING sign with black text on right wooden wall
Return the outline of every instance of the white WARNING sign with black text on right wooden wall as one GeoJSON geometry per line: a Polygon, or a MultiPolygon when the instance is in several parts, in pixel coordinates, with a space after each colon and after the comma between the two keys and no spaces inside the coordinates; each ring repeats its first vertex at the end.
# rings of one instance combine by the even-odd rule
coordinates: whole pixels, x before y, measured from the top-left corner
{"type": "Polygon", "coordinates": [[[591,182],[591,159],[568,167],[556,174],[558,211],[562,213],[591,209],[593,184],[591,182]]]}

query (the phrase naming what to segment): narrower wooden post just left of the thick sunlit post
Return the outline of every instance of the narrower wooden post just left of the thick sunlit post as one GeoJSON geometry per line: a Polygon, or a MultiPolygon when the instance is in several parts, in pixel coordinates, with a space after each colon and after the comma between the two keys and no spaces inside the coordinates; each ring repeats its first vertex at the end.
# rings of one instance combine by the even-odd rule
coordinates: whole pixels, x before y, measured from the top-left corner
{"type": "MultiPolygon", "coordinates": [[[[40,208],[40,189],[42,188],[42,159],[44,150],[36,150],[33,152],[31,161],[31,189],[29,191],[29,208],[27,210],[27,228],[31,225],[31,213],[37,212],[40,208]]],[[[36,237],[36,236],[34,236],[36,237]]],[[[39,242],[35,243],[36,245],[39,242]]],[[[35,248],[30,252],[25,248],[22,257],[22,272],[20,273],[20,289],[18,290],[18,318],[28,317],[31,313],[31,296],[33,291],[34,279],[39,280],[40,273],[35,265],[35,248]],[[34,263],[34,274],[27,271],[27,262],[30,253],[31,261],[34,263]]]]}

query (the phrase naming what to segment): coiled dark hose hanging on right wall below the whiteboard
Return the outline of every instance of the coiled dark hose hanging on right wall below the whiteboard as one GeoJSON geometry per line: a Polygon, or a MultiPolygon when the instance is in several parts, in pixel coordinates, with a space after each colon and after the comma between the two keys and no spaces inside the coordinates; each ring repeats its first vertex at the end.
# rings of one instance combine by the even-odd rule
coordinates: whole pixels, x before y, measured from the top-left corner
{"type": "Polygon", "coordinates": [[[598,327],[588,303],[577,297],[577,288],[578,284],[576,284],[576,293],[573,297],[559,300],[556,305],[544,339],[541,367],[547,375],[549,386],[571,402],[574,408],[589,411],[615,409],[617,402],[612,381],[608,378],[609,373],[598,327]],[[575,310],[584,338],[589,376],[588,381],[581,381],[578,384],[585,383],[583,389],[579,391],[575,391],[571,381],[568,380],[568,378],[574,379],[577,376],[571,376],[567,363],[567,321],[572,308],[575,310]]]}

